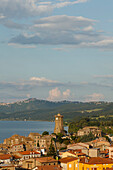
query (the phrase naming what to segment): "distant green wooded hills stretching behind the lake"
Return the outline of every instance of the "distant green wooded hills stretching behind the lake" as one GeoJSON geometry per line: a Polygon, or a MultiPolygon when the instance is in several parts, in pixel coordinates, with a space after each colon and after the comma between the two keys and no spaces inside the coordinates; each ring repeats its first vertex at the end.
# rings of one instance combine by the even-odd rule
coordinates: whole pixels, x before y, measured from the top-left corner
{"type": "Polygon", "coordinates": [[[0,120],[54,121],[60,112],[64,121],[76,121],[81,117],[113,115],[112,102],[51,102],[30,98],[15,103],[0,103],[0,120]]]}

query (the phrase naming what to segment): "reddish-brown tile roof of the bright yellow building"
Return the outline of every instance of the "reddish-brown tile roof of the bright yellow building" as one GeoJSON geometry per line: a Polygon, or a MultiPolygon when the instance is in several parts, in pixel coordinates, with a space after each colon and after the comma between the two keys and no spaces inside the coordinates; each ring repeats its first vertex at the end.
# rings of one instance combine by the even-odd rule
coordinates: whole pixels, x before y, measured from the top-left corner
{"type": "Polygon", "coordinates": [[[86,164],[113,164],[113,159],[110,158],[100,158],[100,157],[94,157],[94,158],[82,158],[80,159],[81,163],[86,164]]]}

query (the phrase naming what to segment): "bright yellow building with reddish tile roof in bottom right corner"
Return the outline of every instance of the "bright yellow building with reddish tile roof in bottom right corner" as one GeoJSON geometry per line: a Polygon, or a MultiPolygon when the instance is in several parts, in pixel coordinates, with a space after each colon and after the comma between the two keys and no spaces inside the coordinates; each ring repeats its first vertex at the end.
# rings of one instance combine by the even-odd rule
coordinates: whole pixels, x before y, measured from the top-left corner
{"type": "Polygon", "coordinates": [[[105,170],[113,167],[110,158],[81,158],[67,163],[67,170],[105,170]]]}

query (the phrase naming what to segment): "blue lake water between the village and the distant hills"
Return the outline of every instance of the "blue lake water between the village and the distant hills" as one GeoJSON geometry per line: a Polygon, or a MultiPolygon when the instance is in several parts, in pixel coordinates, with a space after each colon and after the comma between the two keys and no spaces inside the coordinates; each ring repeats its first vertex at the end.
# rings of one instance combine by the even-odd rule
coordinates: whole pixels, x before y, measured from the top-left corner
{"type": "MultiPolygon", "coordinates": [[[[5,138],[9,138],[14,134],[28,136],[30,132],[38,132],[42,134],[44,131],[53,133],[55,122],[46,121],[0,121],[0,143],[5,138]]],[[[67,130],[67,127],[65,127],[67,130]]]]}

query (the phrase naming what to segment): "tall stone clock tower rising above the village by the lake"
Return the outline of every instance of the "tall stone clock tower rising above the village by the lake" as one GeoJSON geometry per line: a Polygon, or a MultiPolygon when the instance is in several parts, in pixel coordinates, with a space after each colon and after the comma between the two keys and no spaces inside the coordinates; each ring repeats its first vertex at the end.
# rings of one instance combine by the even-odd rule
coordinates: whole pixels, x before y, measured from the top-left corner
{"type": "Polygon", "coordinates": [[[54,133],[63,133],[64,134],[64,127],[63,127],[63,116],[58,113],[55,115],[55,128],[54,133]]]}

